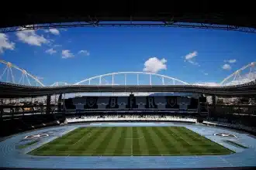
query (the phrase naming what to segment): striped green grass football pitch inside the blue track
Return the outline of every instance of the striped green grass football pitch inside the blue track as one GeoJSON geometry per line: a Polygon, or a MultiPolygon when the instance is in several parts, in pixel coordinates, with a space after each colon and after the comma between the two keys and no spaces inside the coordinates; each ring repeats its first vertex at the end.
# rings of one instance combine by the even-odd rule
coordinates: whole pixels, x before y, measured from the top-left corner
{"type": "Polygon", "coordinates": [[[232,151],[183,127],[77,128],[31,155],[227,155],[232,151]]]}

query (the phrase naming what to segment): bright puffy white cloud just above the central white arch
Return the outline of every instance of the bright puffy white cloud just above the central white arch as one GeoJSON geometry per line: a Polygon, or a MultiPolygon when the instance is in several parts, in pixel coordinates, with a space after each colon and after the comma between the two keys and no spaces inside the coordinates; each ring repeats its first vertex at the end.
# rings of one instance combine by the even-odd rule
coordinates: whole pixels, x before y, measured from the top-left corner
{"type": "Polygon", "coordinates": [[[144,71],[150,73],[157,73],[160,70],[167,70],[166,59],[157,59],[157,57],[151,57],[144,63],[144,71]]]}

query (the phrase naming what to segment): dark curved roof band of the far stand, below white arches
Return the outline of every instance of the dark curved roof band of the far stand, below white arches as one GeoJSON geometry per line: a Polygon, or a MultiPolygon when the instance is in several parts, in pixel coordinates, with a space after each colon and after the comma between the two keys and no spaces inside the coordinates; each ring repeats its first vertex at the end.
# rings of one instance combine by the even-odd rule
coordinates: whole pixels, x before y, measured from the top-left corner
{"type": "Polygon", "coordinates": [[[12,83],[0,83],[0,98],[36,97],[55,93],[105,93],[105,92],[182,92],[206,93],[220,96],[255,96],[255,83],[229,87],[202,87],[193,85],[69,85],[62,87],[28,87],[12,83]]]}

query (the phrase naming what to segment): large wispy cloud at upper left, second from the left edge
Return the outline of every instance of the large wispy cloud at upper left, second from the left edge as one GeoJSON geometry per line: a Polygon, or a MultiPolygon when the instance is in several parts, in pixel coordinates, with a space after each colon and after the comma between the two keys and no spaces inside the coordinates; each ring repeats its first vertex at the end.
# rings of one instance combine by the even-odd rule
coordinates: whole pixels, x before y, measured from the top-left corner
{"type": "Polygon", "coordinates": [[[20,31],[16,33],[16,36],[18,36],[20,41],[33,46],[41,46],[44,43],[49,43],[49,40],[37,35],[35,30],[20,31]]]}

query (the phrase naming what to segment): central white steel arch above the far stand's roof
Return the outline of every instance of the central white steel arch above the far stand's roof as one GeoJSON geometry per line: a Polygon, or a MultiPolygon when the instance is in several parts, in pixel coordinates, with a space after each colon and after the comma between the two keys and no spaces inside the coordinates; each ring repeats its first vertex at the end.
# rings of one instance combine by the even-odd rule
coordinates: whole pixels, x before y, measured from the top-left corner
{"type": "Polygon", "coordinates": [[[147,72],[116,72],[81,80],[74,85],[189,85],[171,76],[147,72]]]}

